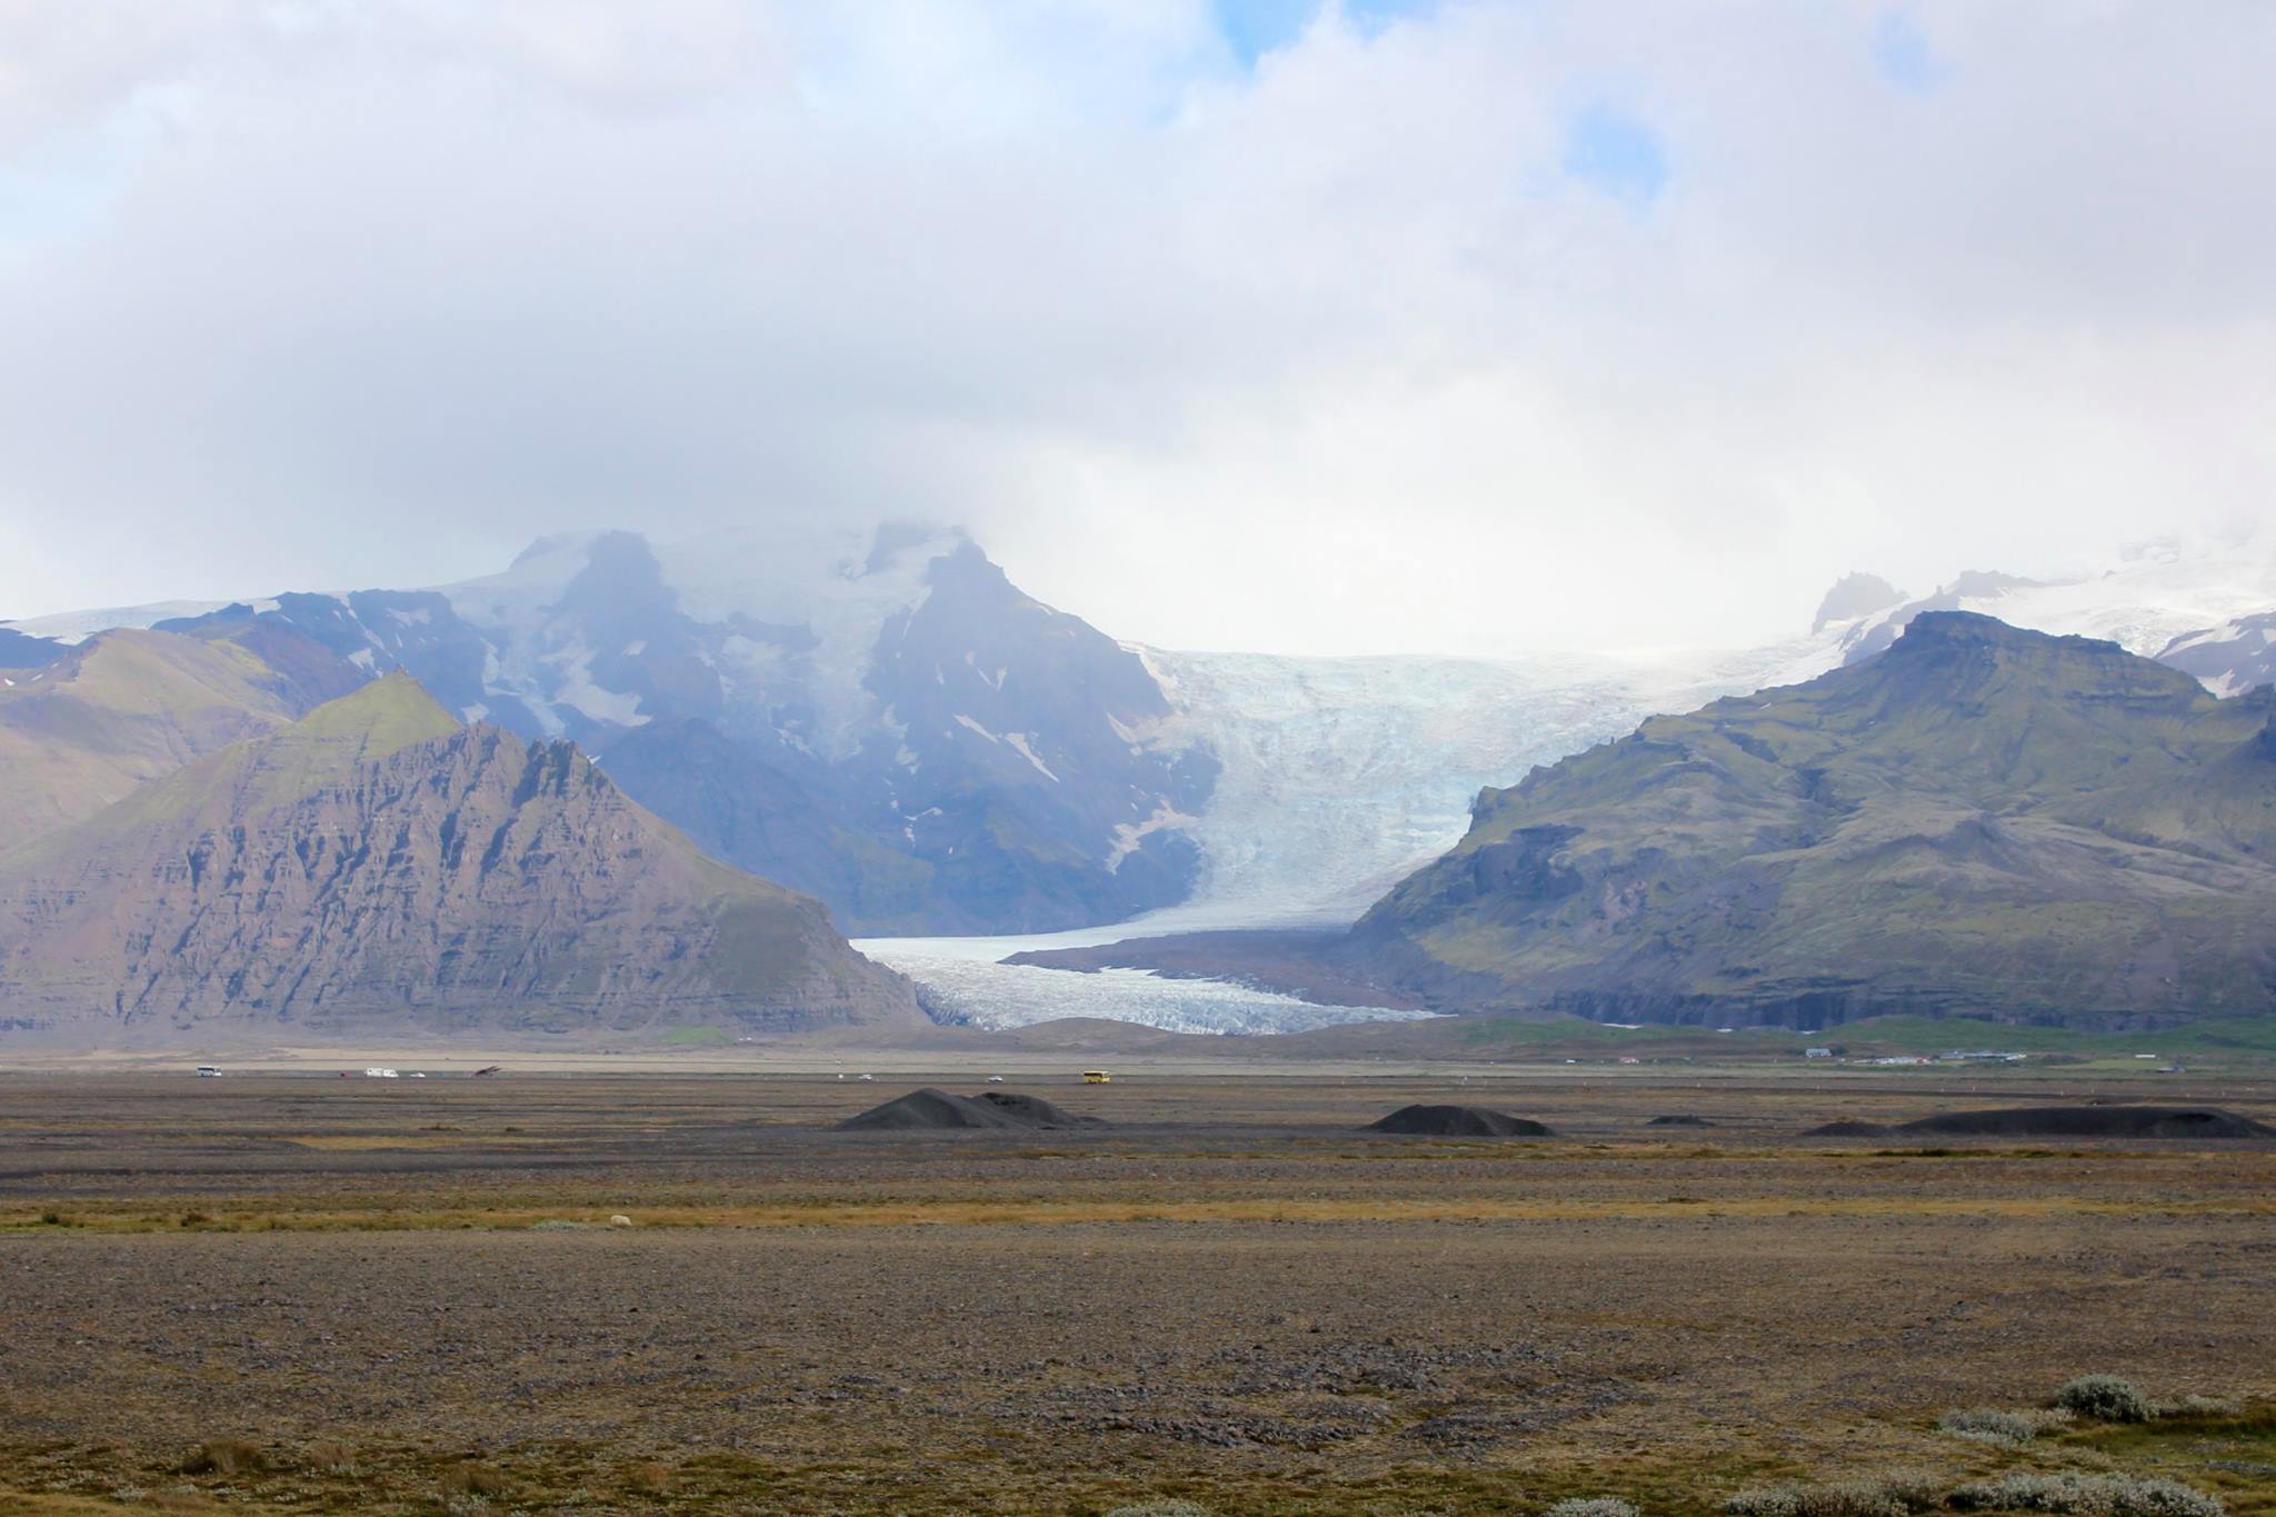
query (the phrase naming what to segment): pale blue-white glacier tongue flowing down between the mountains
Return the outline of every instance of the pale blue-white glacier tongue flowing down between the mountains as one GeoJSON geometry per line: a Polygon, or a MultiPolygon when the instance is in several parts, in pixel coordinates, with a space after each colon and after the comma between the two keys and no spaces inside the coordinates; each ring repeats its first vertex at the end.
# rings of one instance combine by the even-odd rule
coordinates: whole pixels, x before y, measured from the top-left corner
{"type": "Polygon", "coordinates": [[[1158,932],[1343,926],[1454,846],[1482,787],[1621,737],[1652,712],[1819,675],[1839,660],[1839,630],[1748,653],[1625,660],[1138,653],[1177,710],[1163,739],[1209,744],[1222,764],[1209,810],[1188,823],[1206,860],[1195,896],[1079,932],[869,939],[856,944],[863,953],[988,1028],[1099,1017],[1174,1033],[1302,1033],[1425,1017],[1227,980],[1001,960],[1158,932]]]}

